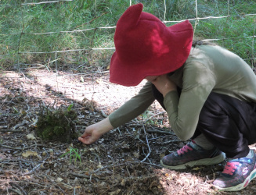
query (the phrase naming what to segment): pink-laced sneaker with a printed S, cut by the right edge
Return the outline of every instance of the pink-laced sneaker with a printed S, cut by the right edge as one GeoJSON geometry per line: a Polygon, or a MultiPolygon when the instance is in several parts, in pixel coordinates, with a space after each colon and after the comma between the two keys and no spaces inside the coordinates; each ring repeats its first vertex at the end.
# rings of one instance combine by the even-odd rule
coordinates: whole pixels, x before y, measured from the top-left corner
{"type": "Polygon", "coordinates": [[[242,190],[256,177],[255,161],[254,152],[252,158],[243,157],[228,161],[213,185],[222,191],[242,190]]]}

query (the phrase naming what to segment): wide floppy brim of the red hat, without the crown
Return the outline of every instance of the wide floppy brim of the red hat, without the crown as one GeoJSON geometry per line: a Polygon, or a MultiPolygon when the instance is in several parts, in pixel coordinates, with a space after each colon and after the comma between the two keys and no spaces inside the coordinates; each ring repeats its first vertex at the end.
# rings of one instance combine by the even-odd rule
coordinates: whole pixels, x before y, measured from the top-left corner
{"type": "Polygon", "coordinates": [[[123,86],[136,86],[146,76],[159,76],[180,68],[189,56],[193,41],[193,27],[188,20],[167,27],[171,40],[166,43],[171,50],[144,62],[128,64],[118,58],[115,51],[110,62],[110,82],[123,86]]]}

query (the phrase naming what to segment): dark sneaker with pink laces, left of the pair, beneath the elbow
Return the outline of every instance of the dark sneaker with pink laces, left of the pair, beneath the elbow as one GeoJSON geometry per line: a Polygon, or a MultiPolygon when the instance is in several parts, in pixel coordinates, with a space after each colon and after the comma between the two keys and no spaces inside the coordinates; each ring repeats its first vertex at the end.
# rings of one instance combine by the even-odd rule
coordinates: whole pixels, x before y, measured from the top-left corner
{"type": "Polygon", "coordinates": [[[219,151],[217,147],[211,150],[205,150],[192,141],[178,151],[162,158],[160,164],[165,168],[178,170],[195,165],[215,165],[224,160],[225,153],[219,151]]]}

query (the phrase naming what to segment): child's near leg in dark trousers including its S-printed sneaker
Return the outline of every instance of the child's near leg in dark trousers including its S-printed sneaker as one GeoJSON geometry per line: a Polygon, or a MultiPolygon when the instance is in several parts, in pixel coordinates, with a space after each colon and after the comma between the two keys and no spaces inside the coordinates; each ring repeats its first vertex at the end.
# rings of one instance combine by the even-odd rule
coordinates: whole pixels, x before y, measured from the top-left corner
{"type": "Polygon", "coordinates": [[[224,191],[245,188],[256,177],[256,104],[211,93],[200,112],[197,132],[225,152],[228,161],[213,185],[224,191]]]}

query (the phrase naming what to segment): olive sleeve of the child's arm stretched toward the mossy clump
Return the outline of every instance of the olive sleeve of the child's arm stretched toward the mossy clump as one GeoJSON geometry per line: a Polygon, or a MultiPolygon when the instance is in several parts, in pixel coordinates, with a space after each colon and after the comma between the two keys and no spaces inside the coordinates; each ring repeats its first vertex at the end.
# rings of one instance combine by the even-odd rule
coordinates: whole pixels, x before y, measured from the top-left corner
{"type": "Polygon", "coordinates": [[[147,82],[139,94],[132,97],[129,101],[125,102],[120,108],[109,115],[110,123],[114,128],[124,125],[135,117],[141,115],[143,112],[152,105],[155,98],[153,97],[151,83],[147,82]]]}

